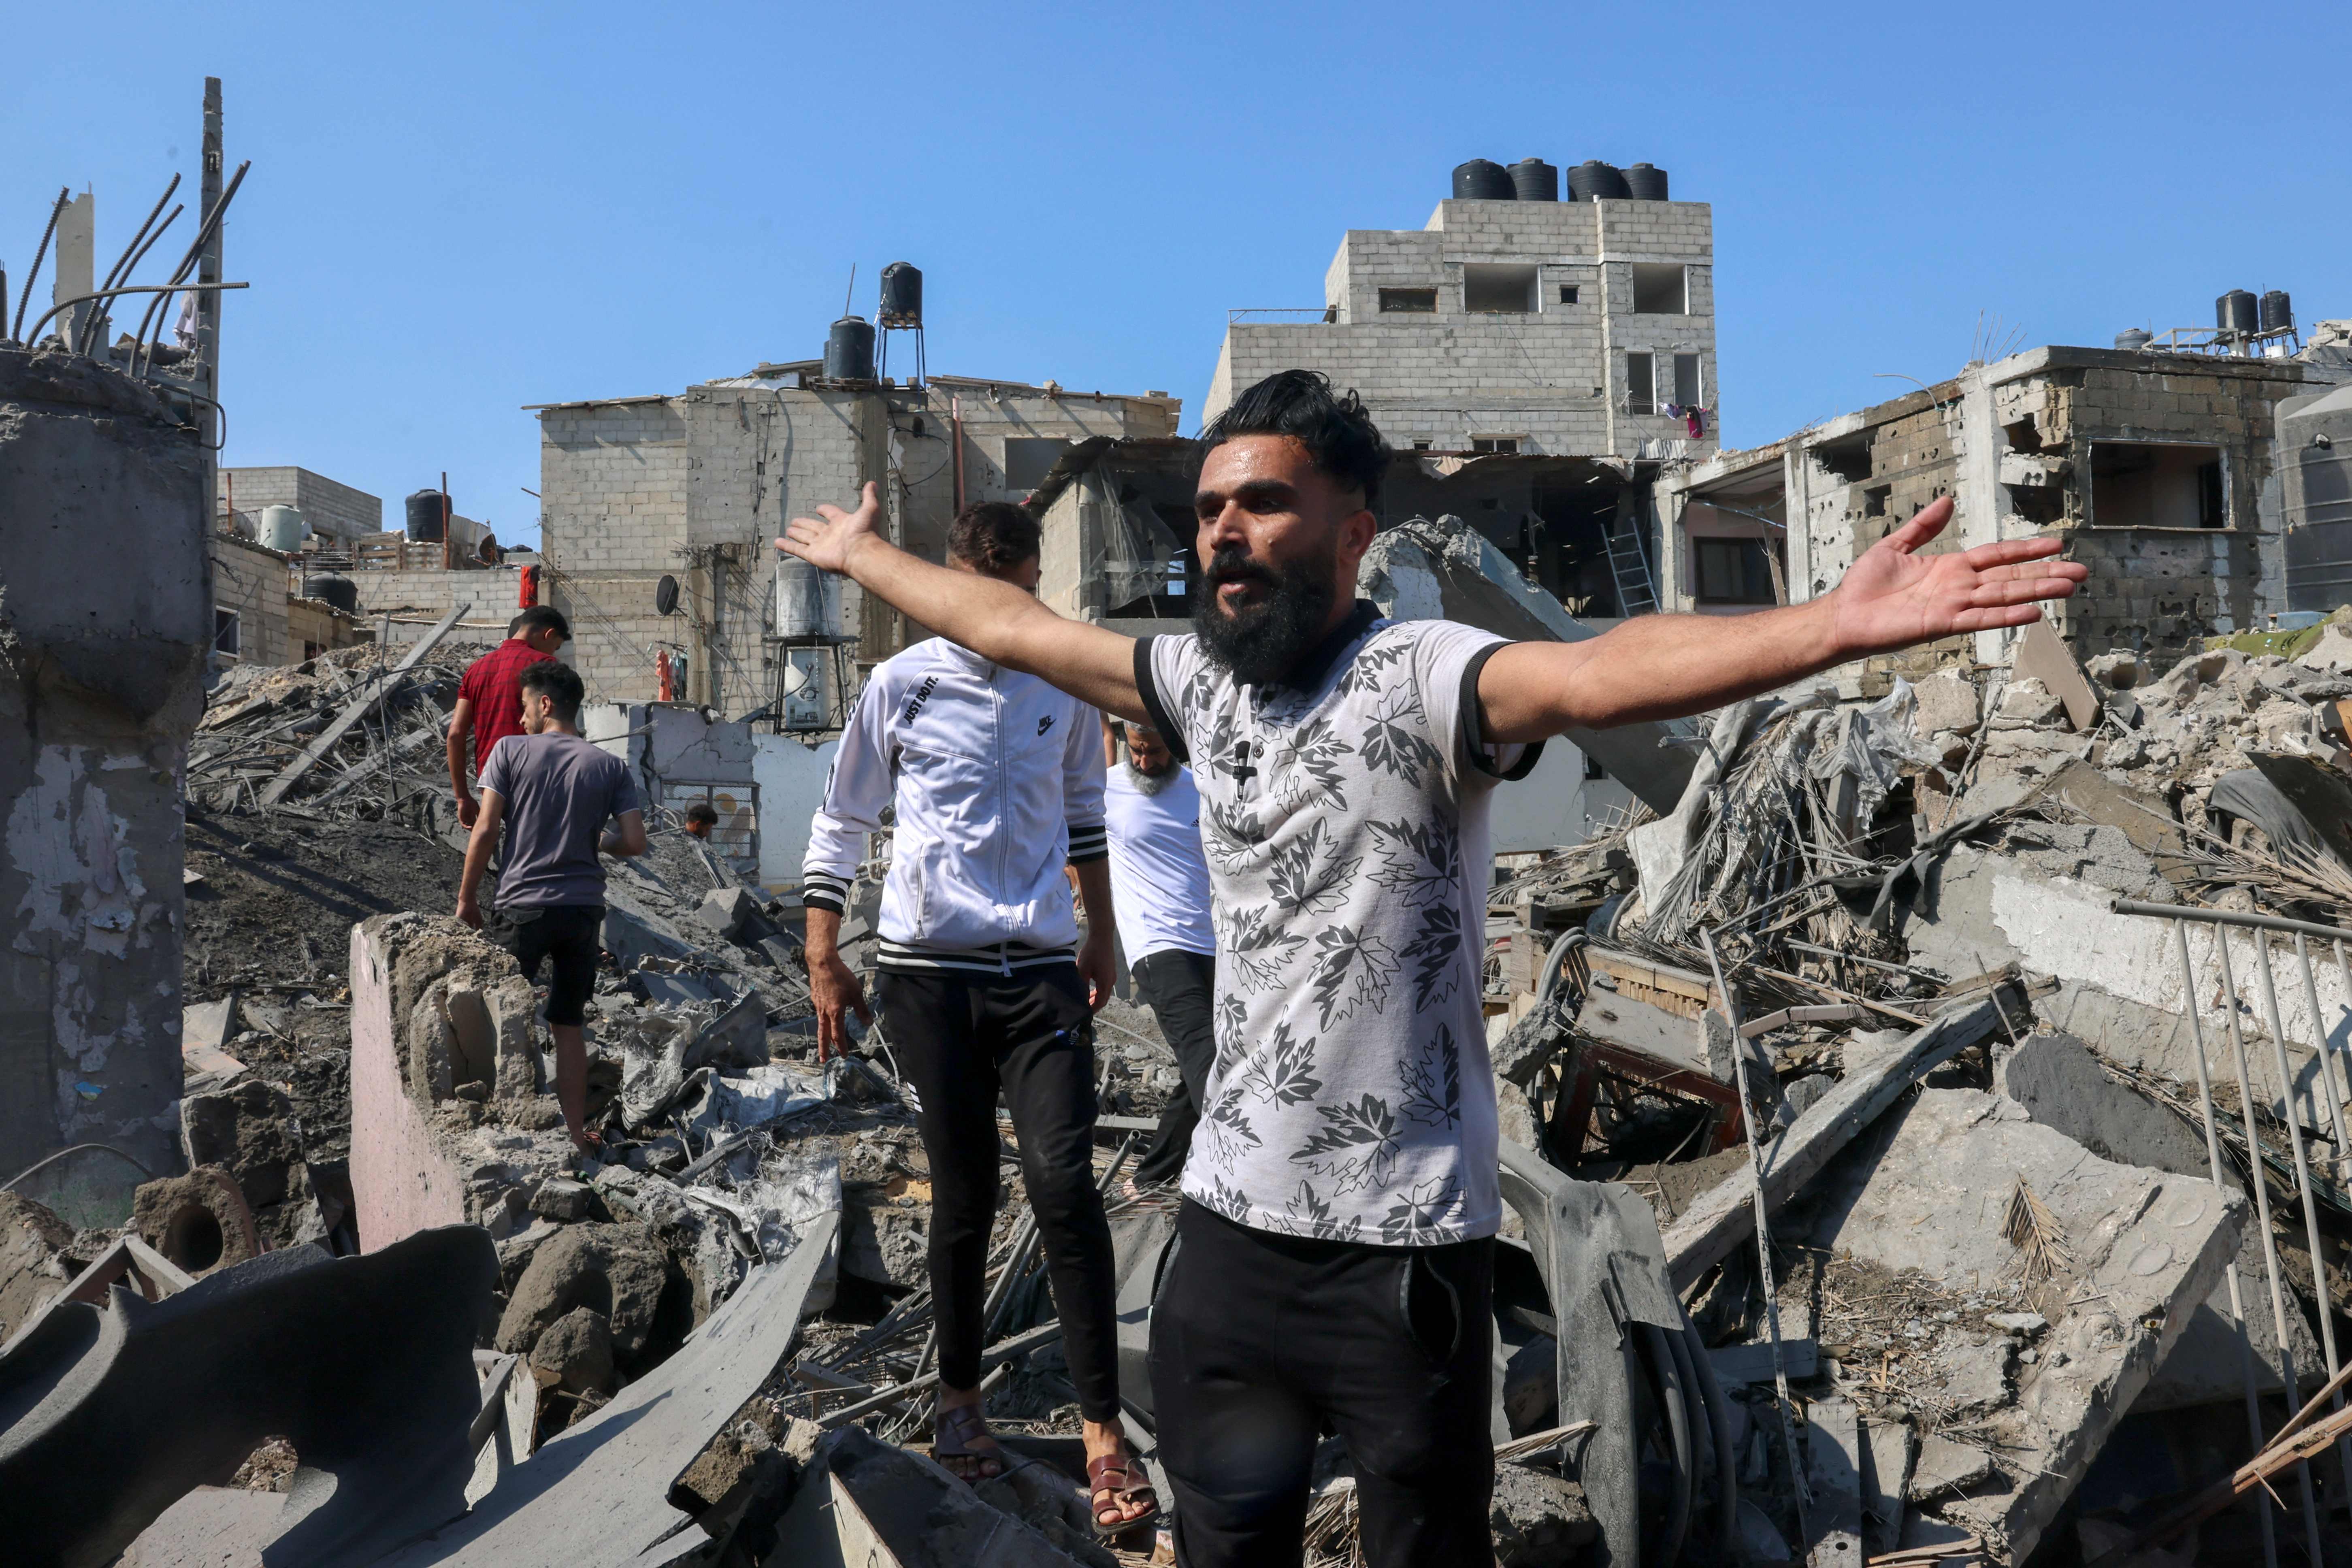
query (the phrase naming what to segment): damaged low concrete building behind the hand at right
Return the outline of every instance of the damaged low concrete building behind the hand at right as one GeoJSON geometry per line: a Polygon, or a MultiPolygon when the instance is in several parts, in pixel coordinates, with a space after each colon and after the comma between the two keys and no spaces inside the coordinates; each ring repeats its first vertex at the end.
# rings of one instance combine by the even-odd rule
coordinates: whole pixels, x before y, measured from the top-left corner
{"type": "MultiPolygon", "coordinates": [[[[2293,357],[2032,348],[1809,425],[1769,447],[1675,465],[1658,484],[1661,602],[1698,614],[1802,602],[1938,496],[1936,550],[2056,534],[2091,581],[2051,607],[2077,656],[2126,649],[2169,668],[2204,637],[2286,609],[2281,400],[2293,357]]],[[[2002,632],[1903,668],[1997,663],[2002,632]]]]}

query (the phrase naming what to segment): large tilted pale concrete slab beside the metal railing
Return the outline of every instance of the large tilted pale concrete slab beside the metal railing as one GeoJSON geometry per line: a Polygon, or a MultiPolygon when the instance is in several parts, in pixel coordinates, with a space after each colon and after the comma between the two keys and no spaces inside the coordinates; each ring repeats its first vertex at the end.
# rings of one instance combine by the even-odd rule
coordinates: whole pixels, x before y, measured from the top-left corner
{"type": "MultiPolygon", "coordinates": [[[[2032,1554],[2220,1284],[2249,1213],[2209,1180],[2098,1159],[2002,1095],[1924,1088],[1823,1171],[1790,1234],[1889,1272],[1990,1291],[2018,1276],[2002,1218],[2020,1180],[2056,1215],[2072,1262],[2034,1286],[2049,1331],[2009,1373],[2013,1399],[1938,1434],[1985,1453],[1983,1474],[1971,1462],[1973,1479],[1943,1479],[1929,1502],[2002,1563],[2032,1554]]],[[[1936,1354],[1966,1349],[1957,1331],[1943,1338],[1955,1342],[1936,1354]]],[[[1922,1448],[1915,1497],[1938,1465],[1922,1448]]]]}

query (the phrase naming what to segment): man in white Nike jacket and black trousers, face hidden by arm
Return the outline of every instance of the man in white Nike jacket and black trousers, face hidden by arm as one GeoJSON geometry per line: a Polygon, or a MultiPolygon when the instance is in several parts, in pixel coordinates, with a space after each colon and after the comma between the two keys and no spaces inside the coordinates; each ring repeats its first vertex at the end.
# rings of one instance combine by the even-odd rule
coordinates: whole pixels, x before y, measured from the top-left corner
{"type": "MultiPolygon", "coordinates": [[[[1037,585],[1037,522],[967,508],[948,531],[962,571],[1037,585]]],[[[1094,1025],[1110,997],[1112,912],[1103,752],[1094,708],[943,637],[880,665],[858,693],[802,863],[818,1053],[870,1018],[840,957],[866,835],[894,809],[875,1001],[920,1100],[931,1161],[938,1314],[934,1455],[967,1479],[1004,1467],[981,1420],[983,1279],[997,1208],[997,1093],[1063,1324],[1101,1533],[1157,1512],[1120,1427],[1110,1225],[1094,1185],[1094,1025]],[[1087,900],[1087,940],[1063,865],[1087,900]]]]}

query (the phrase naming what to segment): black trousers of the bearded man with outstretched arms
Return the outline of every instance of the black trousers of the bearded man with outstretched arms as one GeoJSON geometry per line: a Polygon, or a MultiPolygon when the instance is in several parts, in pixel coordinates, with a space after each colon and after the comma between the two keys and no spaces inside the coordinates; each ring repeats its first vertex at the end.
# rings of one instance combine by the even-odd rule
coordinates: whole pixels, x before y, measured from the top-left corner
{"type": "Polygon", "coordinates": [[[1185,1201],[1152,1415],[1185,1568],[1298,1568],[1315,1443],[1355,1460],[1364,1561],[1491,1568],[1494,1239],[1310,1241],[1185,1201]]]}

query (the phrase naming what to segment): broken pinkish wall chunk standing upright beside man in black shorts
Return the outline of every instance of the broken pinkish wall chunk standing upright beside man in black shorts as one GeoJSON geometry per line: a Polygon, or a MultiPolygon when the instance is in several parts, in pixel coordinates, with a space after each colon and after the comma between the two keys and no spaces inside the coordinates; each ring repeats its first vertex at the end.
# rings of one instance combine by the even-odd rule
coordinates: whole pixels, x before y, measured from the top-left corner
{"type": "Polygon", "coordinates": [[[501,947],[454,919],[350,929],[350,1190],[360,1246],[433,1225],[527,1220],[572,1164],[539,1065],[534,994],[501,947]]]}

